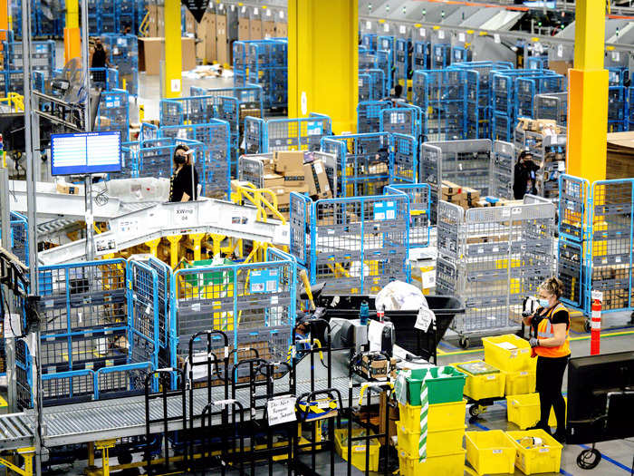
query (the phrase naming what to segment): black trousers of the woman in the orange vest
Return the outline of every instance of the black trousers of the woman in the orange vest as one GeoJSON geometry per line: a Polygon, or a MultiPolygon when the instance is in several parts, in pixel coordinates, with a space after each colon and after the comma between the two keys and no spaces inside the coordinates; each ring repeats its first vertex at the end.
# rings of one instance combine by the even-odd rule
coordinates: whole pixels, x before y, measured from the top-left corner
{"type": "Polygon", "coordinates": [[[566,428],[566,403],[563,400],[562,384],[563,373],[569,360],[570,355],[537,357],[536,387],[541,405],[539,425],[548,428],[548,417],[551,414],[551,408],[554,408],[558,432],[563,432],[566,428]]]}

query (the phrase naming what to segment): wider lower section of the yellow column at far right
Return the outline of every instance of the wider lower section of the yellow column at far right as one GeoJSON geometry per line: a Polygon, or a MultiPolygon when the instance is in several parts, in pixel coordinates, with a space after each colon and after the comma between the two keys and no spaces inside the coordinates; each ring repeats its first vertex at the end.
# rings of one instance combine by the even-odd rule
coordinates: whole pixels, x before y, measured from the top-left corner
{"type": "Polygon", "coordinates": [[[568,147],[570,175],[605,180],[608,135],[608,72],[568,72],[568,147]]]}

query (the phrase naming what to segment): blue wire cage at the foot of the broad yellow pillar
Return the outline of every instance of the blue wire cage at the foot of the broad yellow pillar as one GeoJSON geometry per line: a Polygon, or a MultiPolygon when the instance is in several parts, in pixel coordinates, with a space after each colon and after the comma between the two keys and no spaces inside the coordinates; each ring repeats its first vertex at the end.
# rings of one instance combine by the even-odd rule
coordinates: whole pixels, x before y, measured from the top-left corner
{"type": "Polygon", "coordinates": [[[245,153],[319,151],[322,137],[331,133],[331,118],[315,112],[297,119],[246,117],[245,153]]]}

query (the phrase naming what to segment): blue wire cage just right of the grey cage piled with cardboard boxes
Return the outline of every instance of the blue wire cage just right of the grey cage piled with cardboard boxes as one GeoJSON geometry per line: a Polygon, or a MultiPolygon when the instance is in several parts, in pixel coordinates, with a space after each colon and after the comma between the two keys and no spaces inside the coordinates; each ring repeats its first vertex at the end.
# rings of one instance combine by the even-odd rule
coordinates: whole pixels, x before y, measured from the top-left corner
{"type": "MultiPolygon", "coordinates": [[[[336,197],[380,195],[390,183],[415,183],[418,141],[413,136],[375,132],[325,137],[322,151],[332,154],[336,167],[331,183],[336,197]]],[[[329,175],[330,178],[330,175],[329,175]]]]}

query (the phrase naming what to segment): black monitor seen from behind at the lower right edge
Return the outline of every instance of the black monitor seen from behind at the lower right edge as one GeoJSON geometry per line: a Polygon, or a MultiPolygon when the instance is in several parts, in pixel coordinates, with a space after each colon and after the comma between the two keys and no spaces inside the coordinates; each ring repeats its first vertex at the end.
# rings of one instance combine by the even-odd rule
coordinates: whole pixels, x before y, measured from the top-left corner
{"type": "Polygon", "coordinates": [[[571,359],[566,442],[634,436],[634,352],[571,359]]]}

